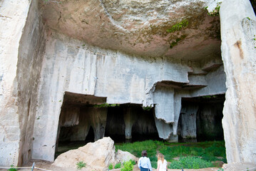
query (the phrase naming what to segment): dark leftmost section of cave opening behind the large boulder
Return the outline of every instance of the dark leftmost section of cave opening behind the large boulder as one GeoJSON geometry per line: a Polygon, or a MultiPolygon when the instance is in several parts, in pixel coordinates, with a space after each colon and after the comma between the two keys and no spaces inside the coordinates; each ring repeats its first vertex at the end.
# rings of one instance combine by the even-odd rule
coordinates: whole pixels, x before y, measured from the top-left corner
{"type": "Polygon", "coordinates": [[[65,92],[58,122],[55,157],[93,142],[104,133],[101,125],[104,124],[106,109],[93,107],[104,103],[106,98],[65,92]]]}

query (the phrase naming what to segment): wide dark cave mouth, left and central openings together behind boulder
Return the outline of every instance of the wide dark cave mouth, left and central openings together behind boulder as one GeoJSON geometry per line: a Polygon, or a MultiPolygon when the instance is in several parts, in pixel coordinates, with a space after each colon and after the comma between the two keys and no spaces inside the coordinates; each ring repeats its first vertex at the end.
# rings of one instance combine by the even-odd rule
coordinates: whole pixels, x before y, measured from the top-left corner
{"type": "Polygon", "coordinates": [[[108,104],[106,98],[65,92],[55,157],[104,136],[115,143],[162,140],[155,126],[155,108],[146,109],[140,104],[108,104]]]}

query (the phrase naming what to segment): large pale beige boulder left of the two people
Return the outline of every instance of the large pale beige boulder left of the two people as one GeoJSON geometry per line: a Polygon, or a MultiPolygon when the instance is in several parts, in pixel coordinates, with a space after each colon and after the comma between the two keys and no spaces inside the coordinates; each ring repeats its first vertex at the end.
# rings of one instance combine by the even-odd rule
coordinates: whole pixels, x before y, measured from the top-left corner
{"type": "Polygon", "coordinates": [[[137,161],[137,158],[131,155],[130,152],[123,152],[121,150],[115,152],[114,141],[108,137],[96,142],[89,142],[77,150],[64,152],[56,158],[52,165],[74,170],[77,167],[76,163],[85,162],[86,167],[83,167],[81,170],[101,171],[108,170],[108,165],[111,163],[116,165],[117,162],[124,162],[130,159],[137,161]]]}

